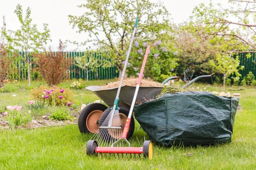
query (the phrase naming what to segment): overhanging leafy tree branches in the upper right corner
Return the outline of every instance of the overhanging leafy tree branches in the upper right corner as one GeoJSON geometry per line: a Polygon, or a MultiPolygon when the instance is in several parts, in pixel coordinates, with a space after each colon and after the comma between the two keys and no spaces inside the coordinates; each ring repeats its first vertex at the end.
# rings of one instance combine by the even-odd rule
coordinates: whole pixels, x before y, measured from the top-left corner
{"type": "Polygon", "coordinates": [[[256,49],[256,1],[229,0],[230,6],[223,8],[221,4],[209,6],[204,3],[195,7],[192,19],[202,27],[195,27],[204,36],[203,40],[211,40],[220,44],[220,48],[212,46],[209,50],[217,54],[255,53],[256,49]],[[231,20],[230,17],[235,18],[231,20]],[[253,51],[251,51],[253,50],[253,51]]]}

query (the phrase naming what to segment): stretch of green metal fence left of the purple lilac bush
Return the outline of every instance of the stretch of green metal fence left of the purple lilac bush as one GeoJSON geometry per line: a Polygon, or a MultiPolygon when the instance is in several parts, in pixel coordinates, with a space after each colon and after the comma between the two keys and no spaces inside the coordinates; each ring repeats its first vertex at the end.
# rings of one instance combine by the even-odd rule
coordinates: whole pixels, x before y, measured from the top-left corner
{"type": "MultiPolygon", "coordinates": [[[[54,52],[53,54],[56,54],[54,52]]],[[[79,68],[75,62],[76,57],[84,56],[84,52],[63,52],[63,54],[66,54],[66,58],[73,59],[70,63],[71,67],[66,73],[66,77],[68,79],[84,79],[86,80],[87,77],[87,71],[79,68]]],[[[25,57],[25,52],[20,52],[20,55],[25,57]]],[[[103,57],[101,56],[101,53],[90,53],[90,55],[93,55],[95,58],[102,60],[103,57]]],[[[38,71],[36,67],[33,64],[33,57],[31,57],[32,60],[30,60],[31,65],[31,78],[37,79],[38,78],[38,71]]],[[[104,58],[111,62],[111,59],[104,58]]],[[[89,61],[89,57],[88,57],[89,61]]],[[[27,79],[28,77],[28,67],[27,67],[27,61],[13,61],[12,68],[15,71],[12,71],[11,78],[13,79],[27,79]]],[[[90,68],[88,70],[88,80],[95,80],[95,79],[112,79],[112,78],[118,78],[119,77],[119,69],[116,67],[110,66],[108,68],[103,68],[102,66],[97,68],[97,72],[93,72],[90,68]]]]}

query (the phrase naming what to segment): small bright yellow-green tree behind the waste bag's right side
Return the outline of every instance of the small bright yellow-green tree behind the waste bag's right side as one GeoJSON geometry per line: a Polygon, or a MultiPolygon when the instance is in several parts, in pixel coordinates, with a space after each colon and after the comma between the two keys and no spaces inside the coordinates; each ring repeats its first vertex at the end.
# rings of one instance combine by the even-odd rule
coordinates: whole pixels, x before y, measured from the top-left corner
{"type": "Polygon", "coordinates": [[[241,77],[239,70],[243,70],[244,66],[241,66],[239,68],[239,62],[240,61],[238,56],[236,56],[236,58],[234,59],[233,57],[231,57],[231,55],[229,56],[217,54],[216,59],[210,60],[209,64],[213,67],[213,69],[215,69],[215,72],[223,74],[223,86],[225,88],[225,80],[226,78],[228,78],[228,76],[235,73],[237,78],[241,77]]]}

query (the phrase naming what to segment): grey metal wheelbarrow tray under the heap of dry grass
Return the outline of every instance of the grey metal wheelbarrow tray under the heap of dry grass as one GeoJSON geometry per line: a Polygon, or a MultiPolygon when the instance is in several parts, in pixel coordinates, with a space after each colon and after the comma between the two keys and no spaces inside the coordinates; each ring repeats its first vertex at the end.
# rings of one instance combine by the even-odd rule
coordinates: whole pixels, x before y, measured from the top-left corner
{"type": "MultiPolygon", "coordinates": [[[[112,106],[114,104],[116,93],[118,87],[108,88],[104,90],[100,90],[104,86],[89,86],[85,89],[92,91],[95,95],[97,95],[102,101],[104,101],[108,106],[112,106]]],[[[133,95],[135,92],[136,86],[128,86],[124,85],[121,87],[121,91],[119,94],[118,106],[123,106],[126,108],[130,108],[132,104],[133,95]]],[[[145,101],[148,99],[155,99],[158,94],[162,92],[163,87],[140,87],[138,91],[138,95],[136,101],[145,101]]],[[[135,103],[135,105],[138,105],[135,103]]]]}

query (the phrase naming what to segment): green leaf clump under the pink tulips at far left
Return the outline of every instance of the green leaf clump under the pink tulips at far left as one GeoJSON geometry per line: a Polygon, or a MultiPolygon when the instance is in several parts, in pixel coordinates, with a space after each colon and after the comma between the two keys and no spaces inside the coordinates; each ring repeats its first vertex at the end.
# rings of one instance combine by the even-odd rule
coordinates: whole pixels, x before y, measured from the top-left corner
{"type": "Polygon", "coordinates": [[[8,114],[6,116],[6,120],[9,123],[9,126],[14,129],[16,126],[24,126],[27,125],[28,122],[31,122],[33,120],[33,117],[31,114],[22,114],[20,111],[8,111],[8,114]]]}

